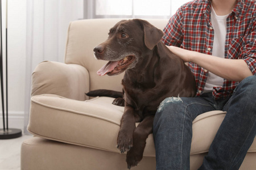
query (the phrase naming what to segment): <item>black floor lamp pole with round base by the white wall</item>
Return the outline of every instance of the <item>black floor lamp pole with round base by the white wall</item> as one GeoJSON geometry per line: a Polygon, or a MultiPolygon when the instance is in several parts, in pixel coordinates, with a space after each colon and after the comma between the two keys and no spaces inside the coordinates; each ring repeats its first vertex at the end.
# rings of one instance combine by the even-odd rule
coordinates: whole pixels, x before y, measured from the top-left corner
{"type": "Polygon", "coordinates": [[[22,136],[22,130],[20,129],[9,129],[8,125],[8,44],[7,44],[7,0],[6,0],[6,127],[5,127],[5,99],[4,99],[4,91],[3,91],[3,53],[2,53],[2,0],[0,0],[0,24],[1,24],[1,56],[0,56],[0,78],[1,78],[1,98],[2,98],[2,115],[3,115],[3,129],[0,129],[0,139],[13,139],[22,136]]]}

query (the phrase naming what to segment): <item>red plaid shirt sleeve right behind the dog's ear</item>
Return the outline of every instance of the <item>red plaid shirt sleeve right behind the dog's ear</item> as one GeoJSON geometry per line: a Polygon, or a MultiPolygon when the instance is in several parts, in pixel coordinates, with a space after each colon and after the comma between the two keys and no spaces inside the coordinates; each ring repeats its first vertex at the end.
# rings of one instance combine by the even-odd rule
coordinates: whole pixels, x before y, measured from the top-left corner
{"type": "Polygon", "coordinates": [[[163,29],[164,36],[162,41],[170,46],[181,46],[183,42],[183,14],[181,7],[176,14],[171,17],[166,27],[163,29]]]}

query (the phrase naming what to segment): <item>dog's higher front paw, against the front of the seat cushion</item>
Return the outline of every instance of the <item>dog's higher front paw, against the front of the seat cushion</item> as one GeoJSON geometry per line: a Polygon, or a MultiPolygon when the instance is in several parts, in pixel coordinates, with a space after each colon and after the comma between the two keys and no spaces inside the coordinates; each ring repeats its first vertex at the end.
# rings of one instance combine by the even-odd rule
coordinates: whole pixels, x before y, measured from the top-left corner
{"type": "Polygon", "coordinates": [[[119,131],[117,138],[117,148],[120,150],[121,154],[129,151],[133,147],[133,134],[122,133],[119,131]]]}

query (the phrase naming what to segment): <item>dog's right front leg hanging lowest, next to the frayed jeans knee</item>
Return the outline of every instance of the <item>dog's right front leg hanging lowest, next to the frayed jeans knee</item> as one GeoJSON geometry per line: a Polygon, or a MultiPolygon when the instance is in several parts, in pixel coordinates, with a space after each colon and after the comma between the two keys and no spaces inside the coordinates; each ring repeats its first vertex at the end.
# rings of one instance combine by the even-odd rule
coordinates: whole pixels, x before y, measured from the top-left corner
{"type": "Polygon", "coordinates": [[[146,139],[148,135],[152,133],[153,121],[154,115],[147,116],[134,130],[133,147],[126,155],[127,167],[129,169],[137,166],[138,162],[142,160],[146,139]]]}

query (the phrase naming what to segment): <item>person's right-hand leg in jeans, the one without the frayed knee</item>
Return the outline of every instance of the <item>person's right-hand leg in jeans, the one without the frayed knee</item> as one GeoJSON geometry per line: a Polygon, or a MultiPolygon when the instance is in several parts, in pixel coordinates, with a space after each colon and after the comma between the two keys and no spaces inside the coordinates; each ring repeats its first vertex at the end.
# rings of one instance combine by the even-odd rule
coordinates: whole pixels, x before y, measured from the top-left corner
{"type": "Polygon", "coordinates": [[[228,111],[200,169],[239,169],[256,134],[256,76],[250,76],[234,91],[228,111]]]}

